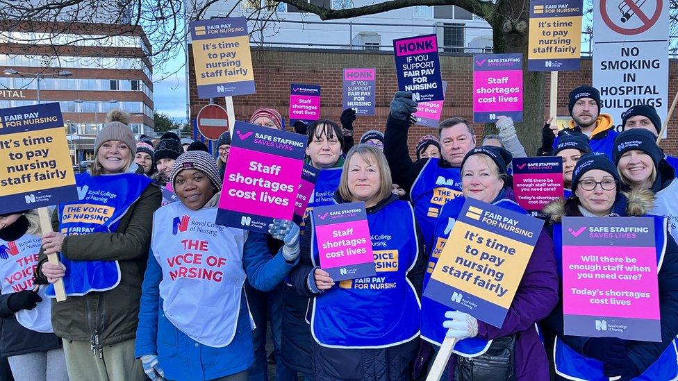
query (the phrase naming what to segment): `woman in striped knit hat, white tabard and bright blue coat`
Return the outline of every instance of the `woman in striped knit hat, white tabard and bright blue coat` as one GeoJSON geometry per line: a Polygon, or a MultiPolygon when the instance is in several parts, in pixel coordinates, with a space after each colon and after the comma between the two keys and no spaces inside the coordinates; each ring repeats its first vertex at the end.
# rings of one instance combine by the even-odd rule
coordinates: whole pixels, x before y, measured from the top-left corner
{"type": "Polygon", "coordinates": [[[254,364],[245,278],[270,291],[299,257],[299,227],[274,220],[263,234],[215,225],[221,180],[209,153],[188,151],[169,176],[181,202],[153,217],[136,357],[152,380],[247,380],[254,364]]]}

